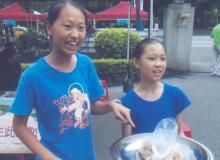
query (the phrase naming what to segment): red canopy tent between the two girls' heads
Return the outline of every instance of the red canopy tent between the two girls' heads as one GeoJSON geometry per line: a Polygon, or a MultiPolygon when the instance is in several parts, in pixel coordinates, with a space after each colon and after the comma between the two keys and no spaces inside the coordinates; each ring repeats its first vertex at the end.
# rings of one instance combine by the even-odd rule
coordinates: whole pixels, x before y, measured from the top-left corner
{"type": "MultiPolygon", "coordinates": [[[[117,19],[127,19],[128,18],[128,1],[121,1],[118,5],[109,8],[105,11],[99,12],[95,14],[96,21],[104,21],[104,20],[117,20],[117,19]]],[[[143,20],[148,20],[148,13],[141,10],[140,11],[141,18],[143,20]]],[[[131,6],[131,20],[136,19],[136,7],[131,6]]]]}

